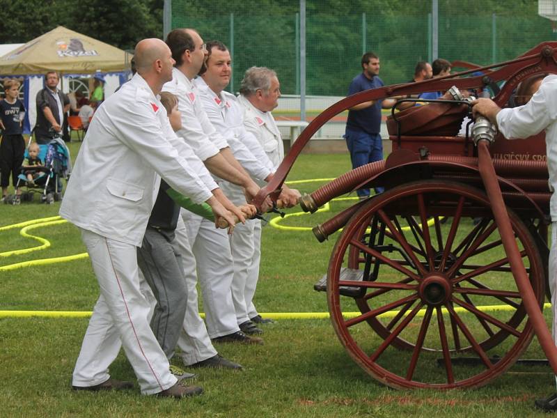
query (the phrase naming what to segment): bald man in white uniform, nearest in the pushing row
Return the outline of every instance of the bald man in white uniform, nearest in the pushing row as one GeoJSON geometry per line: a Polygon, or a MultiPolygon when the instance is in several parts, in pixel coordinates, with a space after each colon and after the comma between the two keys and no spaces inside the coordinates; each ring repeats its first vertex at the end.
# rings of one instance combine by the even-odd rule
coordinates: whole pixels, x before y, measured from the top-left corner
{"type": "Polygon", "coordinates": [[[138,74],[97,110],[68,182],[60,215],[77,225],[99,282],[100,297],[75,365],[74,389],[123,389],[109,375],[120,346],[132,364],[142,394],[182,398],[203,392],[178,384],[153,335],[150,305],[140,291],[136,247],[141,245],[160,177],[215,217],[233,222],[179,155],[180,141],[168,129],[157,95],[172,79],[174,60],[158,39],[135,50],[138,74]]]}

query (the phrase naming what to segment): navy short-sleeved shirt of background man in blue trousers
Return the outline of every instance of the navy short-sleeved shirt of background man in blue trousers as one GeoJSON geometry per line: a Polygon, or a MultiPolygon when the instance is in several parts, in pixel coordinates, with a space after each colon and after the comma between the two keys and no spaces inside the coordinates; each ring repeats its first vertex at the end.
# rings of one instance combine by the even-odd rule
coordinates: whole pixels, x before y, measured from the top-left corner
{"type": "MultiPolygon", "coordinates": [[[[361,91],[384,86],[382,79],[375,76],[368,79],[363,73],[357,75],[350,83],[348,95],[361,91]]],[[[375,104],[366,109],[348,111],[346,126],[352,130],[361,130],[368,134],[378,134],[381,131],[381,108],[383,100],[377,100],[375,104]]]]}

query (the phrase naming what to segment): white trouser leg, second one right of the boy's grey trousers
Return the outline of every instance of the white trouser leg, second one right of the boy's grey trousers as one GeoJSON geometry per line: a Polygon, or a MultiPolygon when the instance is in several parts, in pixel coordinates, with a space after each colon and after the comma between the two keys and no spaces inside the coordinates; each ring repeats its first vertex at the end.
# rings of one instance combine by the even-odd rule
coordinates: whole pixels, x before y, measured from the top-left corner
{"type": "Polygon", "coordinates": [[[191,249],[197,264],[197,279],[203,294],[205,323],[211,338],[240,330],[236,321],[230,286],[234,276],[233,258],[225,229],[182,210],[191,249]]]}

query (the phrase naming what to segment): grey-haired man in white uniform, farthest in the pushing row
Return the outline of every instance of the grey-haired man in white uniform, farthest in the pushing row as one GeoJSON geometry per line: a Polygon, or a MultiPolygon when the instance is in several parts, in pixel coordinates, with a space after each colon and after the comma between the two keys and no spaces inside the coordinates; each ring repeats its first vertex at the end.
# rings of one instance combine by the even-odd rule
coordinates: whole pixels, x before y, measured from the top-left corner
{"type": "MultiPolygon", "coordinates": [[[[244,127],[259,141],[276,171],[284,158],[281,132],[274,121],[272,110],[278,106],[281,97],[281,84],[276,72],[267,67],[251,67],[246,70],[238,102],[244,108],[244,127]]],[[[269,323],[270,319],[261,318],[253,305],[261,260],[261,222],[256,220],[253,228],[253,261],[249,267],[244,288],[246,314],[253,323],[269,323]]],[[[238,309],[236,307],[236,309],[238,309]]],[[[238,315],[238,312],[237,312],[238,315]]]]}

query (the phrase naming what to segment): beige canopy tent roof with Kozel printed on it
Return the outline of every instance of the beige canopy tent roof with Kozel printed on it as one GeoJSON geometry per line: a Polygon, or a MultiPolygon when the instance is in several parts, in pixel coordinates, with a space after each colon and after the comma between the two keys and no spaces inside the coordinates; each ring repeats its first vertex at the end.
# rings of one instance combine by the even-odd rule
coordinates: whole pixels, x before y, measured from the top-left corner
{"type": "Polygon", "coordinates": [[[130,68],[130,59],[122,49],[58,26],[1,56],[0,75],[118,72],[130,68]]]}

